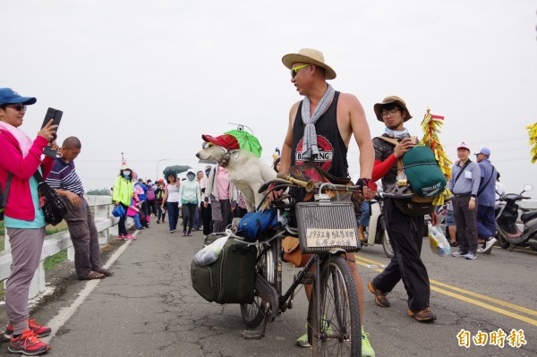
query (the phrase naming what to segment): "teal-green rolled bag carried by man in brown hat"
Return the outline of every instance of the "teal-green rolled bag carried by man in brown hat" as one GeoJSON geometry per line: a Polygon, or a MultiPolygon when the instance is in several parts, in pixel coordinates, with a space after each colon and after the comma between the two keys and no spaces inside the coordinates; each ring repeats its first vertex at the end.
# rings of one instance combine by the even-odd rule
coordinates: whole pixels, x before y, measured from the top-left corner
{"type": "Polygon", "coordinates": [[[427,146],[416,146],[403,156],[406,178],[412,191],[418,196],[433,198],[446,188],[447,180],[427,146]]]}

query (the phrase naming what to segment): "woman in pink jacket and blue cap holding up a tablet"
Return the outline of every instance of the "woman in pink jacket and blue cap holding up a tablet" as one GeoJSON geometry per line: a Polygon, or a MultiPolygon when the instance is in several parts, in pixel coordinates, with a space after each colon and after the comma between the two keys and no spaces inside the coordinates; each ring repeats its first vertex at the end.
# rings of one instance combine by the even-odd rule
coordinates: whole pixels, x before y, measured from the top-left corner
{"type": "Polygon", "coordinates": [[[43,149],[55,144],[57,125],[50,120],[31,140],[19,127],[26,115],[26,106],[36,98],[21,97],[13,89],[0,89],[0,186],[7,196],[4,207],[4,226],[11,244],[13,263],[5,283],[5,311],[10,336],[7,349],[11,353],[38,355],[47,353],[50,346],[39,338],[50,334],[49,327],[29,319],[28,293],[36,272],[45,240],[45,216],[39,206],[38,182],[33,176],[40,171],[47,178],[53,157],[41,161],[43,149]],[[50,142],[50,144],[49,144],[50,142]],[[6,190],[6,186],[9,189],[6,190]]]}

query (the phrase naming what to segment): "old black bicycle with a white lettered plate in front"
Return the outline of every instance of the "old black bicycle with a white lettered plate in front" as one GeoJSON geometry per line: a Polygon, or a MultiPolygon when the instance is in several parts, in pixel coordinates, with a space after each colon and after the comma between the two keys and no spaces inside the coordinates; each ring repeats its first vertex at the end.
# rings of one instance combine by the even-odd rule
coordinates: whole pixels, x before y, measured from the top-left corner
{"type": "Polygon", "coordinates": [[[243,321],[247,327],[258,327],[263,320],[264,325],[260,332],[244,331],[243,337],[260,339],[265,336],[268,321],[274,321],[278,315],[293,308],[295,289],[299,285],[312,285],[307,317],[312,354],[361,356],[361,311],[354,276],[345,256],[347,251],[358,251],[360,241],[354,205],[352,202],[340,201],[339,191],[362,191],[362,187],[305,183],[288,177],[287,180],[270,180],[260,191],[265,191],[271,183],[276,183],[277,186],[268,192],[286,186],[301,186],[306,191],[317,189],[320,193],[315,195],[314,202],[296,204],[298,228],[290,227],[286,222],[290,204],[283,203],[283,200],[271,203],[278,211],[280,224],[256,242],[251,242],[258,248],[254,302],[241,304],[243,321]],[[323,193],[327,189],[337,192],[337,200],[329,200],[329,195],[323,193]],[[289,234],[298,235],[301,253],[312,255],[284,292],[282,239],[289,234]],[[314,268],[314,272],[310,271],[311,268],[314,268]]]}

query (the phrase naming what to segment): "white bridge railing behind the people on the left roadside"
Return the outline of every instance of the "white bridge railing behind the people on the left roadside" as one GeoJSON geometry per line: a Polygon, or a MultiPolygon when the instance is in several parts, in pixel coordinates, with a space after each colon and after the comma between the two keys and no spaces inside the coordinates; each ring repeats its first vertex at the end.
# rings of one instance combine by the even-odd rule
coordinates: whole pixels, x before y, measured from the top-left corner
{"type": "MultiPolygon", "coordinates": [[[[88,201],[91,213],[93,214],[95,220],[95,225],[97,226],[99,234],[98,242],[100,245],[104,245],[108,241],[108,234],[117,234],[117,222],[119,221],[119,218],[112,216],[111,212],[114,208],[114,205],[112,204],[112,197],[86,196],[85,198],[88,201]]],[[[129,221],[131,221],[131,219],[129,219],[129,221]]],[[[4,239],[4,251],[0,251],[0,281],[4,281],[5,285],[5,280],[10,275],[12,255],[7,232],[5,232],[4,239]]],[[[73,260],[74,249],[72,247],[69,231],[51,234],[45,237],[39,267],[30,285],[30,299],[38,296],[41,293],[45,293],[47,290],[45,282],[45,268],[43,264],[45,259],[65,250],[67,250],[67,259],[73,260]]]]}

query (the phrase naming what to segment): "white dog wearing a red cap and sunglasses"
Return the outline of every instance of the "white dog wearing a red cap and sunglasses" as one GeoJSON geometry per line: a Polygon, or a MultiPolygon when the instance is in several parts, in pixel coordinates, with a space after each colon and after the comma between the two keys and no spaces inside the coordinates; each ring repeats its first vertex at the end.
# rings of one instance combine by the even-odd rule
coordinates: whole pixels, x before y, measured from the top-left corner
{"type": "Polygon", "coordinates": [[[260,157],[241,149],[233,135],[201,135],[201,138],[210,145],[201,149],[196,157],[215,160],[218,165],[226,167],[229,180],[243,192],[248,212],[254,211],[263,200],[263,194],[258,193],[258,190],[263,183],[276,178],[276,172],[260,157]]]}

